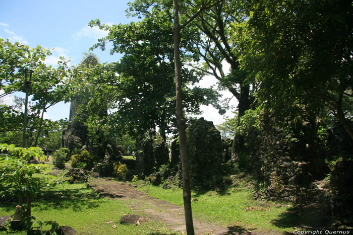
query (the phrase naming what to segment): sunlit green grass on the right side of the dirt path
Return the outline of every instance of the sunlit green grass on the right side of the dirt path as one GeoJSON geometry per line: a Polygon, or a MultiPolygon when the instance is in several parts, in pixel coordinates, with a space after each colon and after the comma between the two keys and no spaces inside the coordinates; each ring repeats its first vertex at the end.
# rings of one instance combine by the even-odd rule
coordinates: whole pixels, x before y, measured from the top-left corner
{"type": "MultiPolygon", "coordinates": [[[[183,206],[183,192],[180,188],[163,189],[152,185],[142,185],[139,190],[173,204],[183,206]]],[[[215,222],[223,226],[238,226],[247,229],[293,231],[292,227],[280,223],[283,213],[289,205],[276,207],[273,202],[260,203],[252,198],[251,189],[233,188],[226,192],[209,191],[197,193],[192,191],[193,215],[202,221],[215,222]]],[[[289,218],[289,220],[292,218],[289,218]]]]}

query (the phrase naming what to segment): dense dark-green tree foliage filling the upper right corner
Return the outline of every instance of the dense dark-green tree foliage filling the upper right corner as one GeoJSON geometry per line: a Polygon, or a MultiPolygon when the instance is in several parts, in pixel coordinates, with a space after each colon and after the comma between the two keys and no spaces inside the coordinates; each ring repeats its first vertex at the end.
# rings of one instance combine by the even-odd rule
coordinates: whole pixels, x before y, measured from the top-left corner
{"type": "Polygon", "coordinates": [[[353,139],[352,4],[242,2],[249,16],[243,37],[251,43],[241,61],[256,72],[261,101],[277,117],[301,105],[322,116],[328,105],[353,139]]]}

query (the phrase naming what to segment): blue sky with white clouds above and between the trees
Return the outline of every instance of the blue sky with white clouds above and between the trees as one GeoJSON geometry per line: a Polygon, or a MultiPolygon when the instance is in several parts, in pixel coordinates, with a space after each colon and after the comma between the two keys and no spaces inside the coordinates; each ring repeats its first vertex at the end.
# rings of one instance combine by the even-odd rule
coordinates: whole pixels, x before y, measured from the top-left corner
{"type": "MultiPolygon", "coordinates": [[[[41,45],[52,49],[52,55],[46,59],[47,64],[56,64],[58,57],[71,59],[75,65],[83,58],[83,53],[104,37],[107,32],[97,27],[90,28],[88,22],[100,19],[103,24],[127,24],[137,19],[127,18],[125,10],[132,0],[0,0],[0,37],[9,38],[29,45],[31,48],[41,45]]],[[[110,55],[109,50],[93,51],[100,62],[119,60],[121,55],[110,55]]],[[[215,79],[207,77],[204,86],[214,85],[215,79]]],[[[23,94],[16,94],[22,96],[23,94]]],[[[229,93],[224,93],[229,96],[229,93]]],[[[232,99],[234,102],[234,98],[232,99]]],[[[58,120],[69,117],[70,104],[61,102],[47,110],[46,118],[58,120]]],[[[213,107],[203,107],[204,117],[219,124],[223,118],[213,107]]],[[[232,116],[230,112],[227,113],[232,116]]]]}

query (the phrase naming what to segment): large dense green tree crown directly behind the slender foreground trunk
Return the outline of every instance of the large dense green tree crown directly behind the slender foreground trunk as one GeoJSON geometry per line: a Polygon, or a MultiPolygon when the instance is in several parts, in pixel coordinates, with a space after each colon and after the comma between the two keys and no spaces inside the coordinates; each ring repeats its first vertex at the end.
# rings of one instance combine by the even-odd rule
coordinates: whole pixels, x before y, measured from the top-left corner
{"type": "MultiPolygon", "coordinates": [[[[140,22],[127,25],[101,25],[99,20],[90,22],[108,30],[106,38],[100,39],[93,48],[105,48],[112,42],[110,53],[123,53],[123,58],[111,65],[115,74],[105,83],[115,88],[116,114],[130,124],[130,130],[138,134],[149,128],[159,127],[166,133],[174,131],[175,90],[173,72],[172,15],[170,8],[155,6],[140,22]]],[[[196,40],[197,32],[186,31],[183,48],[190,50],[190,40],[196,40]],[[196,34],[196,35],[195,35],[196,34]]],[[[195,56],[183,52],[188,58],[195,56]]],[[[193,70],[183,68],[185,77],[184,108],[189,113],[200,113],[201,104],[216,102],[218,95],[212,89],[202,89],[195,84],[201,79],[193,70]],[[191,87],[191,86],[193,87],[191,87]]]]}

